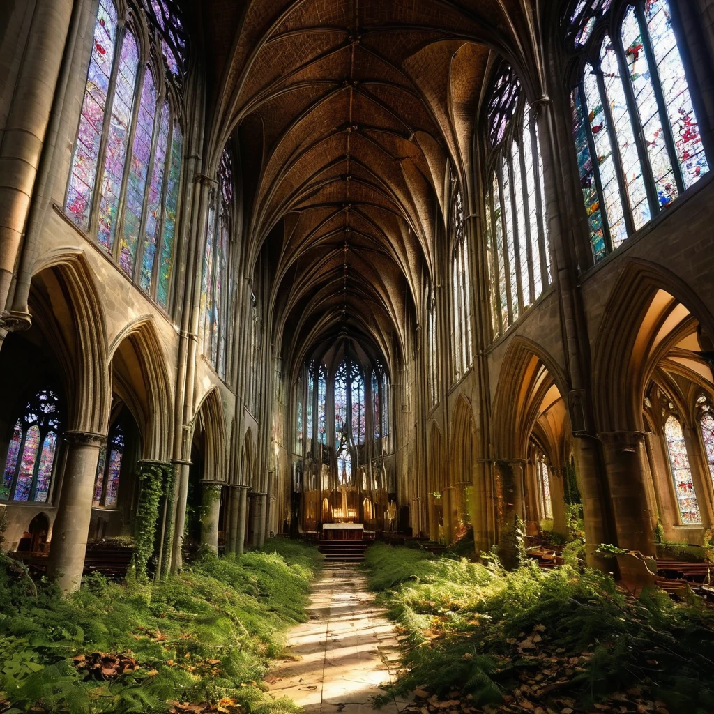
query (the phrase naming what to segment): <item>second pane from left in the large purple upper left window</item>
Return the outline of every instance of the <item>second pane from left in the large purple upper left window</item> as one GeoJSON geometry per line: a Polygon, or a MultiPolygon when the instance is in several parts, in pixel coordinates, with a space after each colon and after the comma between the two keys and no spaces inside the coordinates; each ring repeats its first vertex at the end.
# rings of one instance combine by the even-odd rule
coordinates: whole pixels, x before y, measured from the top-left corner
{"type": "Polygon", "coordinates": [[[136,44],[134,35],[127,32],[119,53],[119,70],[114,86],[109,136],[104,155],[104,175],[101,180],[101,196],[99,198],[97,241],[110,254],[114,249],[116,221],[119,218],[119,197],[121,196],[121,184],[124,180],[126,149],[129,146],[129,127],[138,69],[139,46],[136,44]]]}

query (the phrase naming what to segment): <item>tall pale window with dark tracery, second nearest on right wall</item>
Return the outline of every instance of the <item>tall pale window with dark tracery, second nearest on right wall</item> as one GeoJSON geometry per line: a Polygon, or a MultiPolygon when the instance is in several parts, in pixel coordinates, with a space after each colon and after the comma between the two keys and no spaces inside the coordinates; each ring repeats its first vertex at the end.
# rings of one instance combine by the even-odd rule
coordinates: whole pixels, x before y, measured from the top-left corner
{"type": "Polygon", "coordinates": [[[486,132],[486,258],[495,338],[538,299],[551,279],[538,127],[516,75],[505,63],[491,90],[486,132]]]}

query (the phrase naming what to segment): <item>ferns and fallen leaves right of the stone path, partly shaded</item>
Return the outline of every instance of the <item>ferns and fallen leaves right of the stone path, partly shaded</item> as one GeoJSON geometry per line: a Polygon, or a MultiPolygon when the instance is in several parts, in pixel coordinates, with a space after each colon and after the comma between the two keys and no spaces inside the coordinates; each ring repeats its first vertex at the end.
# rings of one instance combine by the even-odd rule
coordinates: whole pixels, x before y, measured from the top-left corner
{"type": "Polygon", "coordinates": [[[635,599],[570,565],[506,572],[493,557],[486,566],[378,544],[366,567],[406,634],[395,688],[416,688],[416,711],[458,710],[465,698],[471,712],[714,711],[707,605],[635,599]]]}

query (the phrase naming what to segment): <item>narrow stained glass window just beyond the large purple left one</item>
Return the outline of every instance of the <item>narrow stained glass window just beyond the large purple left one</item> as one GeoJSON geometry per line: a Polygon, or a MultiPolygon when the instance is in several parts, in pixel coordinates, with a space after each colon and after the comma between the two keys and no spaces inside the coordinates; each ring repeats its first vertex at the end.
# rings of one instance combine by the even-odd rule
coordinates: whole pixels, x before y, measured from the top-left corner
{"type": "MultiPolygon", "coordinates": [[[[218,191],[211,192],[206,224],[206,248],[201,276],[201,350],[221,376],[226,378],[228,331],[228,245],[233,223],[233,160],[226,147],[218,169],[218,191]]],[[[253,294],[253,318],[257,302],[253,294]]],[[[253,319],[253,345],[258,348],[257,321],[253,319]]],[[[254,380],[251,380],[251,382],[254,380]]],[[[251,406],[255,406],[251,400],[251,406]]]]}

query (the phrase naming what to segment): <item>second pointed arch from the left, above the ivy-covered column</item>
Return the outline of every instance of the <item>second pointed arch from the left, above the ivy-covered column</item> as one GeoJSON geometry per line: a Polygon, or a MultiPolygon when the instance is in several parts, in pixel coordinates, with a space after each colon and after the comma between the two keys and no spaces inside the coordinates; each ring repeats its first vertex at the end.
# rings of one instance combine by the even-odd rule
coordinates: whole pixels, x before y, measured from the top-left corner
{"type": "Polygon", "coordinates": [[[134,413],[144,436],[143,458],[169,461],[173,398],[152,316],[141,316],[119,332],[109,347],[108,363],[114,391],[134,413]]]}

